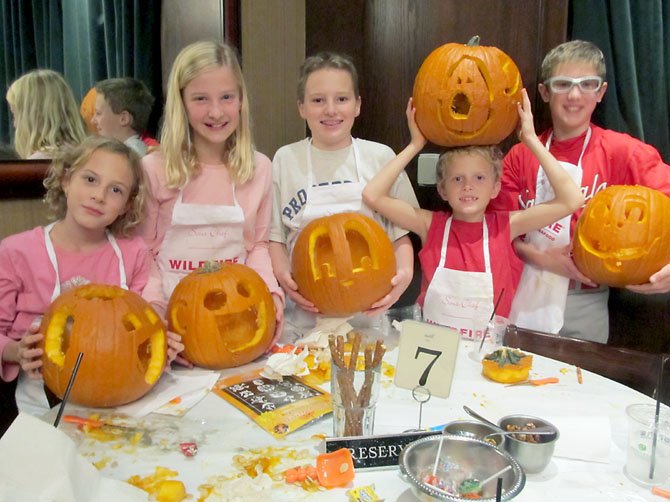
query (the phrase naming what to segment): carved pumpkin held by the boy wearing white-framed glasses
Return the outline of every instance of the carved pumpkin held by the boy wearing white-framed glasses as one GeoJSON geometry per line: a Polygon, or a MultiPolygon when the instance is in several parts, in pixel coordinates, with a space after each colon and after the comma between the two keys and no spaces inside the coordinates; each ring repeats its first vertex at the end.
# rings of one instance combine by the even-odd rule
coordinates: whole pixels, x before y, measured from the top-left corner
{"type": "Polygon", "coordinates": [[[670,262],[670,197],[643,186],[614,185],[598,192],[579,217],[575,264],[598,284],[648,282],[670,262]]]}

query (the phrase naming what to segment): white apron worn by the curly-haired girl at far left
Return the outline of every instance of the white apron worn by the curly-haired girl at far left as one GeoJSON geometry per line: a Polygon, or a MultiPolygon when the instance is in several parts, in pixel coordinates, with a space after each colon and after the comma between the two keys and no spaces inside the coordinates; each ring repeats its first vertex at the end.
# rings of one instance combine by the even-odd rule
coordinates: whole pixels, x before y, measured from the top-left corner
{"type": "MultiPolygon", "coordinates": [[[[60,283],[60,274],[58,272],[58,259],[56,258],[56,250],[54,249],[53,242],[51,241],[51,229],[56,223],[51,223],[44,227],[44,245],[47,249],[47,255],[49,256],[49,261],[54,268],[56,273],[56,283],[54,285],[54,290],[51,293],[51,301],[53,302],[61,293],[61,283],[60,283]]],[[[114,254],[119,260],[119,278],[121,287],[123,289],[128,289],[128,284],[126,281],[126,268],[123,265],[123,256],[121,255],[121,250],[119,245],[116,243],[114,236],[107,231],[107,240],[114,250],[114,254]]],[[[35,319],[33,324],[40,322],[41,318],[35,319]]],[[[16,406],[19,411],[30,413],[34,416],[40,416],[46,413],[50,406],[47,401],[47,396],[44,392],[44,381],[39,379],[33,379],[28,377],[24,371],[19,372],[19,379],[16,384],[16,406]]]]}

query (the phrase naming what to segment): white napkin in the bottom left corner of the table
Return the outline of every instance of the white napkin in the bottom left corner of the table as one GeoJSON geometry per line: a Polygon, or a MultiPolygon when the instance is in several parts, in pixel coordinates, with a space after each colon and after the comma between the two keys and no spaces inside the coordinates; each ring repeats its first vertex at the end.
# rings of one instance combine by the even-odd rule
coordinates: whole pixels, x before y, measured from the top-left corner
{"type": "Polygon", "coordinates": [[[0,500],[147,501],[148,494],[106,478],[51,424],[20,413],[0,439],[0,500]]]}

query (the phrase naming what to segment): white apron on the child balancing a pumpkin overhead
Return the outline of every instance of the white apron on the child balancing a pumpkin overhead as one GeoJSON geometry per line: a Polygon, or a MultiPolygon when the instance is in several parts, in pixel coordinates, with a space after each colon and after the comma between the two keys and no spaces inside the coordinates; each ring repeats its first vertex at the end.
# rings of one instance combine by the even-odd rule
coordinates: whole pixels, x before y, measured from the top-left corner
{"type": "Polygon", "coordinates": [[[493,274],[486,218],[482,222],[484,272],[466,272],[446,268],[450,216],[444,225],[440,262],[426,290],[423,318],[426,322],[449,326],[463,338],[476,338],[486,329],[493,312],[493,274]]]}

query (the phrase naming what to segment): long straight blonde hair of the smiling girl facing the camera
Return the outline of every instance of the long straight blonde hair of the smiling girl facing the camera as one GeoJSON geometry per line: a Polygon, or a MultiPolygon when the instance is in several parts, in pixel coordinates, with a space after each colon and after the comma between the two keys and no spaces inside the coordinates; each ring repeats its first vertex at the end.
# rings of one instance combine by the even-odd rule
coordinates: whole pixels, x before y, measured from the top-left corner
{"type": "Polygon", "coordinates": [[[168,78],[165,121],[161,134],[161,149],[165,156],[165,178],[168,187],[184,186],[200,169],[197,152],[190,140],[191,128],[182,91],[203,72],[221,67],[231,70],[241,97],[239,125],[224,145],[228,172],[231,179],[237,183],[244,183],[254,176],[249,100],[237,55],[227,44],[196,42],[182,49],[177,55],[168,78]]]}

